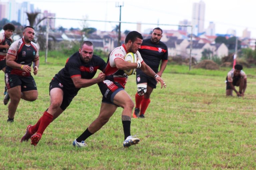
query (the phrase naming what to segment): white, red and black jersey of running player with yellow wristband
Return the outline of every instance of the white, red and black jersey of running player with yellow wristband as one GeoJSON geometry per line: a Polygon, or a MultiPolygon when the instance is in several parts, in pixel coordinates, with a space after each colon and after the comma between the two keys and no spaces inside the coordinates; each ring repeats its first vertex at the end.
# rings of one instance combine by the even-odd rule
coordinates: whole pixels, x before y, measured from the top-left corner
{"type": "MultiPolygon", "coordinates": [[[[34,42],[26,45],[24,39],[21,38],[13,42],[8,50],[8,54],[15,56],[15,62],[23,65],[32,65],[32,61],[39,57],[38,46],[34,42]]],[[[17,74],[21,76],[30,76],[30,73],[24,72],[22,69],[16,69],[6,66],[5,73],[17,74]]]]}

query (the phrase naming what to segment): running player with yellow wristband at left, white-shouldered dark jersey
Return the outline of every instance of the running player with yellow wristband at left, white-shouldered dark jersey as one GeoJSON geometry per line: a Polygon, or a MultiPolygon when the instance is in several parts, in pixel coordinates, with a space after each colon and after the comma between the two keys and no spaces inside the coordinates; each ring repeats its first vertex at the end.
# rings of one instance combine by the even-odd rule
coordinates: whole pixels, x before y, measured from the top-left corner
{"type": "Polygon", "coordinates": [[[32,42],[35,35],[33,27],[26,26],[23,30],[23,37],[13,42],[6,55],[5,84],[7,93],[4,97],[4,104],[8,105],[8,120],[13,122],[14,115],[20,99],[35,101],[37,99],[37,87],[31,75],[33,63],[34,75],[38,72],[39,53],[38,46],[32,42]]]}

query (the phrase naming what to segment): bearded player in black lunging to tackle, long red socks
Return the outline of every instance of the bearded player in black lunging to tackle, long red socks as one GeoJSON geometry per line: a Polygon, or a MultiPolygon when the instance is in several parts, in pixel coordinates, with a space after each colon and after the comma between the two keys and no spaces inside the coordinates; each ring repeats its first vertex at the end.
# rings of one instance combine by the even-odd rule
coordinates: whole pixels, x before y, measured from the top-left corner
{"type": "Polygon", "coordinates": [[[89,41],[83,42],[79,51],[69,57],[65,67],[53,77],[49,87],[50,107],[34,126],[28,125],[21,142],[31,138],[31,144],[37,145],[47,126],[69,106],[80,88],[105,79],[105,74],[102,72],[97,78],[93,78],[97,69],[103,71],[105,65],[102,58],[93,55],[93,44],[89,41]]]}

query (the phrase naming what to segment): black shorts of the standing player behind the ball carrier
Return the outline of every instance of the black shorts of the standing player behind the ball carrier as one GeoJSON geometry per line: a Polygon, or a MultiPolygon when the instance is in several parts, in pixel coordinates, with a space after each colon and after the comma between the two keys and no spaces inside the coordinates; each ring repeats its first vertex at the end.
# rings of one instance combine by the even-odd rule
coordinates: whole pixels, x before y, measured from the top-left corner
{"type": "Polygon", "coordinates": [[[157,84],[155,78],[148,76],[143,71],[141,71],[141,69],[136,70],[136,83],[147,83],[147,86],[152,87],[154,89],[156,88],[157,84]]]}

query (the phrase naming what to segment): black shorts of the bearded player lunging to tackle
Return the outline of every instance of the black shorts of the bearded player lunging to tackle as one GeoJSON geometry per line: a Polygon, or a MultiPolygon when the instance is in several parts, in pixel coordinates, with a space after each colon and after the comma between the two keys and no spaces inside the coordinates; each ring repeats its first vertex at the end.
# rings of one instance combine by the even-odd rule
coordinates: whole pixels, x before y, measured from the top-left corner
{"type": "Polygon", "coordinates": [[[70,105],[73,98],[77,95],[77,90],[67,90],[59,81],[52,79],[49,85],[49,94],[53,88],[60,88],[63,91],[63,99],[60,108],[65,110],[70,105]]]}

